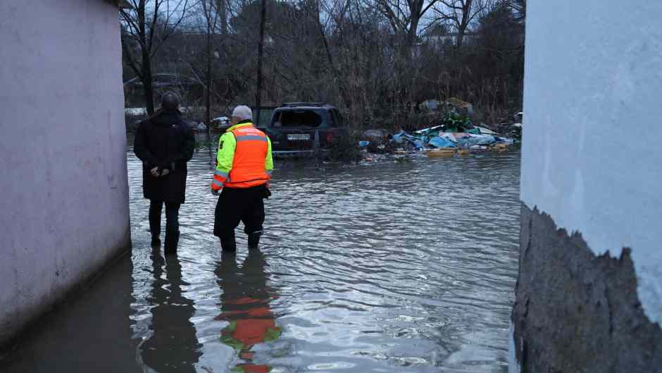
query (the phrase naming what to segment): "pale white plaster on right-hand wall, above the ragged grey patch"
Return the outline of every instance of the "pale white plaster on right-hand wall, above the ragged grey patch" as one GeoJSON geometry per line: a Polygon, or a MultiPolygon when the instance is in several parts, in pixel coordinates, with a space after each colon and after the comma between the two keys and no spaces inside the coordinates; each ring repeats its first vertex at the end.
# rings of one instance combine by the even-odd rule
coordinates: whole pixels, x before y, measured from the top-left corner
{"type": "Polygon", "coordinates": [[[632,248],[662,324],[662,2],[527,6],[522,200],[597,254],[632,248]]]}

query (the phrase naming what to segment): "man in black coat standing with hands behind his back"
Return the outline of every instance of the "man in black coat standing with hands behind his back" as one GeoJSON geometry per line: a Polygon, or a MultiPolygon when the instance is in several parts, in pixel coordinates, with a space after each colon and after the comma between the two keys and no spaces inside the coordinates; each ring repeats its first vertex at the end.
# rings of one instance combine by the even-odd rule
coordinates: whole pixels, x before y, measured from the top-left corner
{"type": "Polygon", "coordinates": [[[149,200],[151,244],[161,245],[161,210],[165,202],[165,254],[177,252],[179,210],[186,190],[186,163],[193,157],[195,137],[182,120],[180,99],[166,92],[161,109],[143,121],[133,150],[142,161],[142,190],[149,200]]]}

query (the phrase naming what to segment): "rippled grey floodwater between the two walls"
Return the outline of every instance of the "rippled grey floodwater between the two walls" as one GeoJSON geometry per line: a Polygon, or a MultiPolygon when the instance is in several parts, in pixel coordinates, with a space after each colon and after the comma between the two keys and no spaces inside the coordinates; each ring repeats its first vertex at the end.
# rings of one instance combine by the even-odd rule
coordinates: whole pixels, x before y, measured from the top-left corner
{"type": "Polygon", "coordinates": [[[276,161],[261,250],[221,255],[196,152],[176,258],[133,249],[0,357],[13,372],[506,372],[520,153],[276,161]]]}

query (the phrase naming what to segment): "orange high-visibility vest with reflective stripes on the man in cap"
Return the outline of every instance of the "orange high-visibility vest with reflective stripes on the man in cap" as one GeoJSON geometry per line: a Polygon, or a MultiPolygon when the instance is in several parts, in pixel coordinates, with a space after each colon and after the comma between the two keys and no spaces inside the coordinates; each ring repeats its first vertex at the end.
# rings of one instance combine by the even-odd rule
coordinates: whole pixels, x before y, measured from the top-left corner
{"type": "Polygon", "coordinates": [[[232,161],[227,188],[251,188],[270,180],[264,160],[268,152],[268,140],[261,130],[253,126],[239,127],[232,131],[237,140],[235,158],[232,161]]]}

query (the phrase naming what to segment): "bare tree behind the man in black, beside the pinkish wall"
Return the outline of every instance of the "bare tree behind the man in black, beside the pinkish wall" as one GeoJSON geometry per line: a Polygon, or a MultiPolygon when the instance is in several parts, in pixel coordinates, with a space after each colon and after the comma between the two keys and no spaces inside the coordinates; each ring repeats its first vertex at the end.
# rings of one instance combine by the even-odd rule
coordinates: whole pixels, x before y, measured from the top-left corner
{"type": "Polygon", "coordinates": [[[122,48],[127,65],[142,82],[146,109],[154,114],[152,67],[158,49],[178,30],[189,10],[189,0],[129,0],[132,9],[120,9],[122,48]]]}

